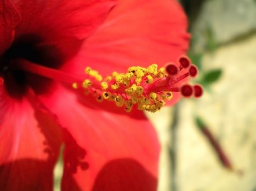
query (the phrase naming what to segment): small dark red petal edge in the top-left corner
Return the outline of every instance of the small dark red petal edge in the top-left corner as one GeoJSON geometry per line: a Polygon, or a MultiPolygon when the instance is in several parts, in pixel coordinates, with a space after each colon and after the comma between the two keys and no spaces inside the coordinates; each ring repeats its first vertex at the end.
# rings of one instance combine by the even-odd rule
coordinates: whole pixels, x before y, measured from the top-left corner
{"type": "Polygon", "coordinates": [[[0,55],[12,43],[20,15],[10,0],[0,0],[0,55]]]}

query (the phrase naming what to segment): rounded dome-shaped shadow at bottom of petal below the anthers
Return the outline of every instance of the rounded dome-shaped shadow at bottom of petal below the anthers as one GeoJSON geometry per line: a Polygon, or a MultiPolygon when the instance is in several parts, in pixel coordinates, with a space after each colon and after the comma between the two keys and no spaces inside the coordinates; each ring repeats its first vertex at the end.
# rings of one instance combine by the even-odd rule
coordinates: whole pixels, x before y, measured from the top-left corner
{"type": "Polygon", "coordinates": [[[157,180],[133,159],[116,159],[107,163],[94,182],[93,191],[156,190],[157,180]]]}

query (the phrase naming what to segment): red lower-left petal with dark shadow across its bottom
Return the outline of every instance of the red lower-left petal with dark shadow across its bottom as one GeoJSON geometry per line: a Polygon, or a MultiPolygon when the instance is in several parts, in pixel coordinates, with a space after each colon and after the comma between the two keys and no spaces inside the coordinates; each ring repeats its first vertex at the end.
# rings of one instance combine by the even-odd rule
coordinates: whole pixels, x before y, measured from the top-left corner
{"type": "Polygon", "coordinates": [[[61,144],[59,127],[32,100],[13,100],[1,87],[0,188],[52,190],[61,144]]]}

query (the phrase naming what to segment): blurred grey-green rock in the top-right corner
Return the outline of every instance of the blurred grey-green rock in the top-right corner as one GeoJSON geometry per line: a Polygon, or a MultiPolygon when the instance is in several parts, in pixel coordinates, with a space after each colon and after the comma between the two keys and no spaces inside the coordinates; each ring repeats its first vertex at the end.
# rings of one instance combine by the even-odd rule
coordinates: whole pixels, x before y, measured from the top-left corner
{"type": "MultiPolygon", "coordinates": [[[[190,1],[193,2],[193,1],[190,1]]],[[[196,5],[194,5],[197,7],[196,5]]],[[[211,31],[216,43],[227,43],[256,32],[255,0],[203,1],[200,10],[191,12],[191,32],[196,39],[193,49],[203,51],[211,31]]]]}

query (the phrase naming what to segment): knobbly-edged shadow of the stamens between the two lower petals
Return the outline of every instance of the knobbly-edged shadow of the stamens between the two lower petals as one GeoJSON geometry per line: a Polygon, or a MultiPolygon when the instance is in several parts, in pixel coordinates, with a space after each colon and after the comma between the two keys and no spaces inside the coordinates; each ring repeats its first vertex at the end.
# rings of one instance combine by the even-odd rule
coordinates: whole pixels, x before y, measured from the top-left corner
{"type": "MultiPolygon", "coordinates": [[[[30,104],[35,109],[35,118],[38,122],[42,134],[45,137],[44,144],[47,146],[44,152],[49,154],[48,160],[54,160],[59,156],[59,150],[62,143],[65,144],[64,150],[64,168],[65,172],[75,173],[77,167],[82,170],[88,169],[88,163],[84,161],[86,151],[77,144],[70,132],[61,126],[58,117],[52,114],[45,105],[33,96],[32,92],[29,94],[30,104]]],[[[64,172],[64,173],[65,173],[64,172]]]]}

